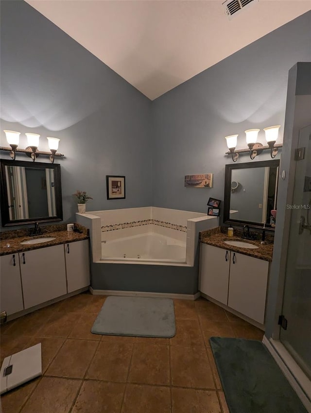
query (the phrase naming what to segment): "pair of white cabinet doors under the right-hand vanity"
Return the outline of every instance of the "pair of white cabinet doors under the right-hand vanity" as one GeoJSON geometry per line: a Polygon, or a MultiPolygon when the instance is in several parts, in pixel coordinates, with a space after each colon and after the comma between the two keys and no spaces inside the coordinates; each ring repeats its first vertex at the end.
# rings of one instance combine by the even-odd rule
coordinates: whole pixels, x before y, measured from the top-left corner
{"type": "Polygon", "coordinates": [[[201,244],[200,291],[259,324],[264,324],[268,273],[268,261],[201,244]]]}

